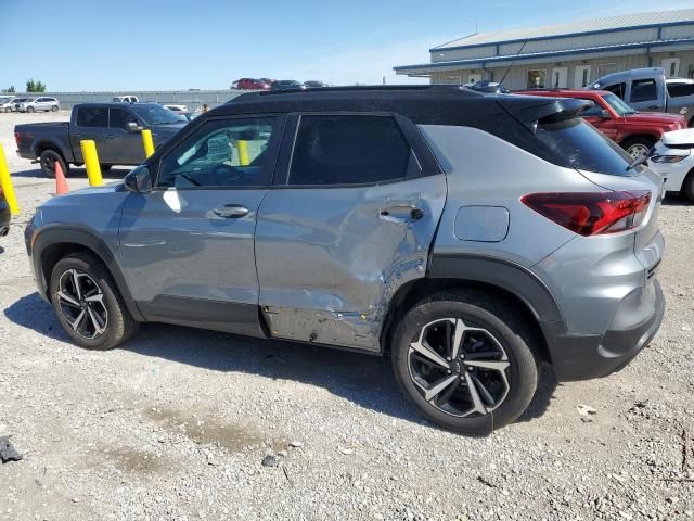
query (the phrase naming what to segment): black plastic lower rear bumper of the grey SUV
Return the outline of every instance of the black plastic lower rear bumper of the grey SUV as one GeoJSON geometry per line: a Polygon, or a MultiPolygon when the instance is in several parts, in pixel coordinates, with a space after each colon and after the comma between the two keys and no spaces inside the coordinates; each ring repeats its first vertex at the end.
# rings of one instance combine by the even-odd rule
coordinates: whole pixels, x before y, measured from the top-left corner
{"type": "Polygon", "coordinates": [[[665,314],[665,296],[653,280],[652,313],[645,320],[602,335],[577,335],[561,331],[557,322],[544,322],[554,373],[558,381],[590,380],[619,371],[627,366],[658,332],[665,314]]]}

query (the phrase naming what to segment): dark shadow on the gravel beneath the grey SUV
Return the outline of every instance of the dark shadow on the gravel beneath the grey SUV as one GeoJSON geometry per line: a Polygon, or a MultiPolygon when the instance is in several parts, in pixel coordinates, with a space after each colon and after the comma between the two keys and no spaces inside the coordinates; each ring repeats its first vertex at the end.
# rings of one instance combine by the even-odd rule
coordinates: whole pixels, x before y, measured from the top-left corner
{"type": "MultiPolygon", "coordinates": [[[[53,310],[38,293],[20,298],[4,309],[4,315],[20,326],[69,342],[53,310]]],[[[433,425],[400,394],[390,361],[385,357],[157,323],[143,325],[139,334],[119,348],[213,371],[319,385],[360,407],[433,425]]],[[[519,421],[544,414],[556,387],[556,381],[552,381],[540,386],[519,421]]]]}

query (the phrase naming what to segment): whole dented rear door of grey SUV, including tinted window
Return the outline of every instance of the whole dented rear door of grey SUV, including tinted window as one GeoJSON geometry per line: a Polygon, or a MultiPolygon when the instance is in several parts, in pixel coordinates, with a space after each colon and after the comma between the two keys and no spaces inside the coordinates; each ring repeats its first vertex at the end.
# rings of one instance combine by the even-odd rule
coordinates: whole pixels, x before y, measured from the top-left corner
{"type": "Polygon", "coordinates": [[[446,179],[391,114],[295,115],[256,228],[273,336],[378,351],[389,300],[424,277],[446,179]]]}

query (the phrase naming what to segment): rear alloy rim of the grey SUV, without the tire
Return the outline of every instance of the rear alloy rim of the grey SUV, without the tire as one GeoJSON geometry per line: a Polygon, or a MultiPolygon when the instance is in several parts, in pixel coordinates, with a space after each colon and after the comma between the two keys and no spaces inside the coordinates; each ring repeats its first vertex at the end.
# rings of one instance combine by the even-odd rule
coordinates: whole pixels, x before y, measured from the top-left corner
{"type": "Polygon", "coordinates": [[[510,361],[496,336],[460,318],[417,332],[408,350],[410,378],[422,398],[450,416],[485,416],[509,395],[510,361]]]}

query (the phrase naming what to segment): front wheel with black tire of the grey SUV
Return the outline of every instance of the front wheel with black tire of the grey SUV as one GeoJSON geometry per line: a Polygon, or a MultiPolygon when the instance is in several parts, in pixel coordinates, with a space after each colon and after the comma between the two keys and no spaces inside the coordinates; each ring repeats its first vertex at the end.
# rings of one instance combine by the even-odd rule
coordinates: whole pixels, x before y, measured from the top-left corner
{"type": "Polygon", "coordinates": [[[59,260],[51,274],[50,296],[61,326],[81,347],[111,350],[129,340],[140,327],[128,312],[111,274],[92,254],[76,253],[59,260]],[[76,279],[80,293],[75,291],[76,279]],[[79,294],[82,298],[78,301],[79,294]],[[88,302],[89,298],[92,301],[88,302]],[[73,300],[70,304],[69,300],[73,300]]]}

